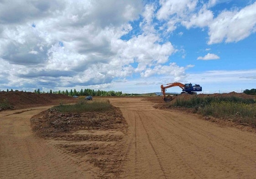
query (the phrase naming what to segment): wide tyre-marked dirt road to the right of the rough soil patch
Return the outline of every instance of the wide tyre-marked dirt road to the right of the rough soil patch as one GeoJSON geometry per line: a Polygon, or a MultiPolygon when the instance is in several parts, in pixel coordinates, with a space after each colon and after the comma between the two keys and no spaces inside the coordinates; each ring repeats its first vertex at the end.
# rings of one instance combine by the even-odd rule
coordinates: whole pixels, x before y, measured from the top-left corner
{"type": "Polygon", "coordinates": [[[140,98],[110,101],[130,126],[121,178],[256,179],[256,134],[157,110],[140,98]]]}

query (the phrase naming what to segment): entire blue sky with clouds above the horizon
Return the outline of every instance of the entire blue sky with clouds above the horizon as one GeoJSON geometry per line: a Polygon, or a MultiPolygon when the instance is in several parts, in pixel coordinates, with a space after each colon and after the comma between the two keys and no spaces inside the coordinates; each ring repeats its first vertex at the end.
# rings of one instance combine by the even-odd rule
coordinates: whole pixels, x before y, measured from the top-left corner
{"type": "Polygon", "coordinates": [[[0,0],[1,91],[171,82],[256,88],[256,0],[0,0]]]}

